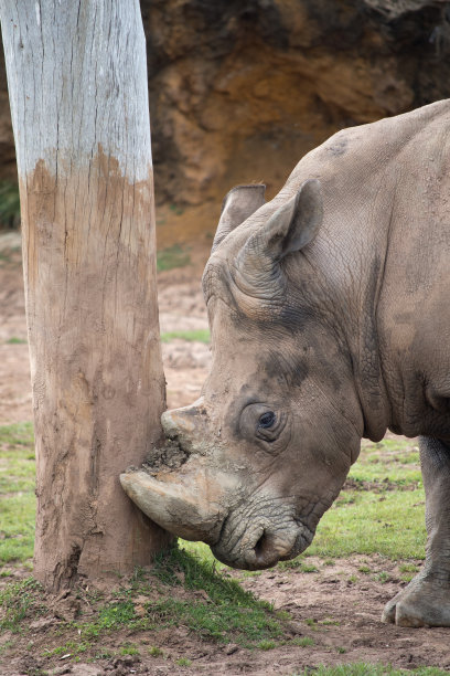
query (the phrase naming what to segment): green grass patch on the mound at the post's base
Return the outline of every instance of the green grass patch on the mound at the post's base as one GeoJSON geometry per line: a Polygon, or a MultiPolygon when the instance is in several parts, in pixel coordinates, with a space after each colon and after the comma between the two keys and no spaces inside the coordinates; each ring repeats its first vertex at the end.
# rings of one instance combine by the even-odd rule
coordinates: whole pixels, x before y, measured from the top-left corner
{"type": "MultiPolygon", "coordinates": [[[[90,599],[93,601],[93,599],[90,599]]],[[[261,642],[283,638],[282,620],[269,604],[244,591],[236,581],[218,574],[214,563],[203,562],[181,549],[160,558],[152,571],[138,570],[128,585],[121,587],[115,601],[106,604],[97,599],[94,616],[81,616],[69,623],[77,641],[67,641],[58,647],[63,653],[76,655],[119,629],[129,632],[151,631],[184,624],[197,636],[219,643],[238,643],[255,647],[261,642]],[[171,588],[200,590],[201,595],[188,599],[171,593],[171,588]],[[156,590],[159,596],[154,598],[156,590]],[[137,613],[133,596],[146,595],[144,615],[137,613]]],[[[129,649],[133,644],[122,646],[129,649]]],[[[150,648],[154,657],[162,654],[150,648]]]]}

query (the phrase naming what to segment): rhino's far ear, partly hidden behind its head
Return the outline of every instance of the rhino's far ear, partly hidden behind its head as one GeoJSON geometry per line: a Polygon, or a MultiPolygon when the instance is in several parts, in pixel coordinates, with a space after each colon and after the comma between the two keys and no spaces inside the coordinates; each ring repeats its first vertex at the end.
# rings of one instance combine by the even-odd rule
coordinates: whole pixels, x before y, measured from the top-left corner
{"type": "Polygon", "coordinates": [[[236,186],[225,196],[211,253],[217,249],[227,234],[265,204],[265,192],[266,186],[255,183],[254,186],[236,186]]]}

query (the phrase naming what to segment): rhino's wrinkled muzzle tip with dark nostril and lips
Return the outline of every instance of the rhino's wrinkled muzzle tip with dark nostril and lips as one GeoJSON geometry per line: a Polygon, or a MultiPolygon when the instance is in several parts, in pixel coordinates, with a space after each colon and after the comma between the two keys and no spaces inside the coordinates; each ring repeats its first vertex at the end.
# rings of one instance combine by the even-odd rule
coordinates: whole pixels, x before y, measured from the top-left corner
{"type": "Polygon", "coordinates": [[[314,532],[301,520],[290,519],[274,526],[264,520],[244,528],[234,528],[228,516],[217,542],[211,547],[216,559],[244,570],[261,570],[299,556],[310,546],[314,532]]]}

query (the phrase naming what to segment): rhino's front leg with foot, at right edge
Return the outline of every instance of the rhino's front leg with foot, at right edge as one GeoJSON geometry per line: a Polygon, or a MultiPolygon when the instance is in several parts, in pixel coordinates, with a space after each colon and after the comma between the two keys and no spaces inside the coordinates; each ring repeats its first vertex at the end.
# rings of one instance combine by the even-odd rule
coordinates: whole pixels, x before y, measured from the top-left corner
{"type": "Polygon", "coordinates": [[[399,626],[450,626],[450,446],[420,437],[426,494],[424,569],[387,605],[384,622],[399,626]]]}

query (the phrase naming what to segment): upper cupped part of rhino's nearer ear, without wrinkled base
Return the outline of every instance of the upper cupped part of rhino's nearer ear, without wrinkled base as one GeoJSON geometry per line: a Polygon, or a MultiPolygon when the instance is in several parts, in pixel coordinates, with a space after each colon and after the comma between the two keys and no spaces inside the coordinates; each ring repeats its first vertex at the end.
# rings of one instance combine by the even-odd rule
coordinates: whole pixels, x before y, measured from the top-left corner
{"type": "Polygon", "coordinates": [[[288,253],[300,251],[309,244],[322,221],[321,184],[317,179],[310,179],[270,216],[264,232],[259,233],[260,244],[266,247],[266,255],[269,254],[274,261],[280,261],[288,253]]]}

